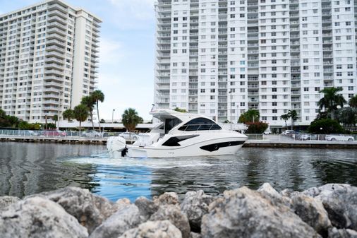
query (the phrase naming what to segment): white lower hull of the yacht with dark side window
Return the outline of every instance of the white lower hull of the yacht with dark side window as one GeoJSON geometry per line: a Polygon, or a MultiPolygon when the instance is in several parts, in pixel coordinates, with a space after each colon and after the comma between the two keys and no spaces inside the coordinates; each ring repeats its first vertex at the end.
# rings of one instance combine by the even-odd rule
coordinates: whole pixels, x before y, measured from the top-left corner
{"type": "Polygon", "coordinates": [[[207,155],[234,155],[246,138],[219,138],[182,146],[128,145],[128,157],[188,157],[207,155]]]}

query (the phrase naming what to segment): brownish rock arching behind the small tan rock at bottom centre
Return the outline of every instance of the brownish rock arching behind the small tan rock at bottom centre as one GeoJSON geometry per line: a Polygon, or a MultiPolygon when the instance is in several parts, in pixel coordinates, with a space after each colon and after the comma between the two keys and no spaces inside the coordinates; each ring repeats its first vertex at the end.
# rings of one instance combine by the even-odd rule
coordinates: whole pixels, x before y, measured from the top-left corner
{"type": "Polygon", "coordinates": [[[169,220],[181,231],[182,238],[190,237],[190,223],[188,222],[188,218],[176,205],[159,206],[159,209],[156,213],[152,214],[150,220],[169,220]]]}

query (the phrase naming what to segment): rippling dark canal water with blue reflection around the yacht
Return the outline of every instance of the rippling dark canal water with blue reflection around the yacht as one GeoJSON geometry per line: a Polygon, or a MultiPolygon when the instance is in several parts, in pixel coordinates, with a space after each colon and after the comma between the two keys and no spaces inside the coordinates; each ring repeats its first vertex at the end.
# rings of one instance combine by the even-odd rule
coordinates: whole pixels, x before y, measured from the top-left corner
{"type": "Polygon", "coordinates": [[[80,186],[116,201],[174,191],[257,189],[302,191],[327,183],[357,186],[357,150],[242,148],[237,155],[113,159],[102,145],[1,143],[0,196],[23,197],[80,186]]]}

